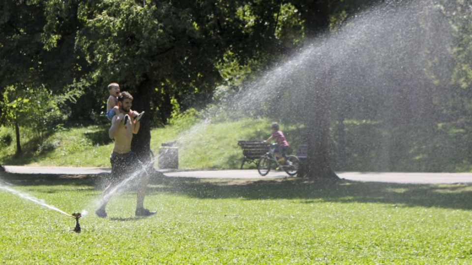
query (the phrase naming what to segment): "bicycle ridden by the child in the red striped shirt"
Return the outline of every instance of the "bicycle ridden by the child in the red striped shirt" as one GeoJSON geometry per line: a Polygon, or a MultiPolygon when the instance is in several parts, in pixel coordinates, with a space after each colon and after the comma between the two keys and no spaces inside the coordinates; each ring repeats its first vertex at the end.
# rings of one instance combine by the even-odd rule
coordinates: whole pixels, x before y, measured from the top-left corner
{"type": "Polygon", "coordinates": [[[285,163],[279,163],[277,157],[274,155],[276,146],[277,144],[271,144],[266,155],[259,159],[257,162],[257,171],[259,171],[261,176],[266,176],[269,173],[272,164],[274,164],[276,167],[283,169],[290,176],[295,176],[298,171],[298,166],[300,165],[300,160],[295,156],[287,156],[285,163]]]}

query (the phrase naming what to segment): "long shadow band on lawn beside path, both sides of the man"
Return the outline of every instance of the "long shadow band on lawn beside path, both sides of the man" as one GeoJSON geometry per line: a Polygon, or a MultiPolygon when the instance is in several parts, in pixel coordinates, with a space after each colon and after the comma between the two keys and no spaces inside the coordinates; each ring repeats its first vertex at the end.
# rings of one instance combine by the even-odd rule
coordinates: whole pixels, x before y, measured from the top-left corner
{"type": "MultiPolygon", "coordinates": [[[[101,190],[106,176],[105,174],[87,176],[1,174],[0,180],[18,186],[50,185],[47,192],[54,193],[61,192],[59,185],[76,185],[78,191],[101,190]]],[[[296,178],[280,180],[152,178],[148,194],[161,192],[198,199],[293,199],[297,200],[296,203],[307,204],[355,202],[381,203],[395,207],[420,206],[472,210],[470,203],[472,184],[418,185],[347,180],[323,184],[296,178]]]]}

